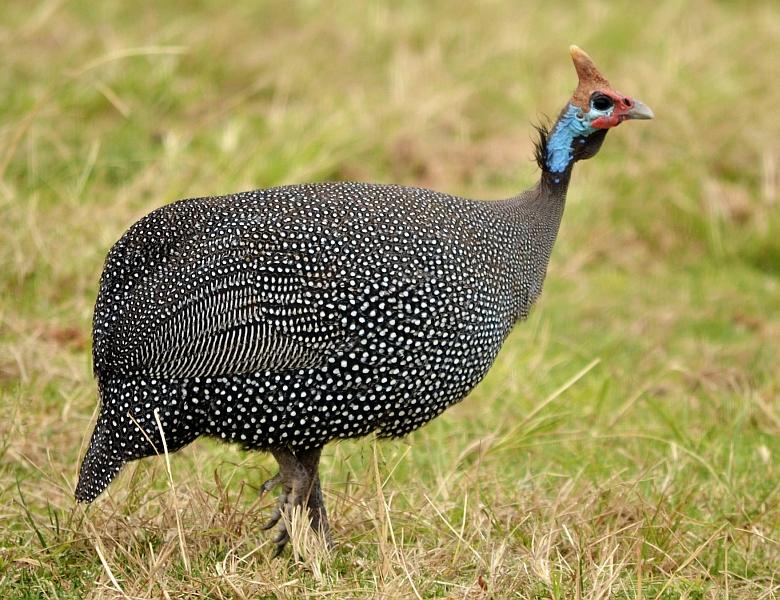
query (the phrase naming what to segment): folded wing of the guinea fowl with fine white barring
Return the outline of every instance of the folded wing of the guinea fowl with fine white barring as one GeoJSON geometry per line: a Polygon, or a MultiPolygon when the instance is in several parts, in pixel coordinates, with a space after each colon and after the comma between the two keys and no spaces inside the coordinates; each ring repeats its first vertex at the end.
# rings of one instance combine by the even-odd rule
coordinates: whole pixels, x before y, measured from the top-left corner
{"type": "Polygon", "coordinates": [[[326,276],[319,249],[267,223],[190,224],[200,234],[181,239],[160,230],[169,215],[150,217],[107,259],[93,326],[97,373],[310,368],[352,343],[334,304],[344,290],[326,276]]]}

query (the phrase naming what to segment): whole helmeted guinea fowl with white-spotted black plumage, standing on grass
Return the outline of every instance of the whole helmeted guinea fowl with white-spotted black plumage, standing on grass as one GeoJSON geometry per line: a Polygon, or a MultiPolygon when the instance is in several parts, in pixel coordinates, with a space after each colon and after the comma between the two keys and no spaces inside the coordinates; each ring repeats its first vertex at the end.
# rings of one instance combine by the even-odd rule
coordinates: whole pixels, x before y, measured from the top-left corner
{"type": "Polygon", "coordinates": [[[106,259],[93,322],[100,412],[76,486],[199,436],[273,454],[280,524],[308,509],[332,440],[403,436],[462,400],[542,290],[572,167],[652,111],[571,47],[579,85],[541,129],[536,187],[502,201],[365,183],[164,206],[106,259]],[[162,433],[161,433],[162,431],[162,433]],[[164,436],[164,439],[163,439],[164,436]]]}

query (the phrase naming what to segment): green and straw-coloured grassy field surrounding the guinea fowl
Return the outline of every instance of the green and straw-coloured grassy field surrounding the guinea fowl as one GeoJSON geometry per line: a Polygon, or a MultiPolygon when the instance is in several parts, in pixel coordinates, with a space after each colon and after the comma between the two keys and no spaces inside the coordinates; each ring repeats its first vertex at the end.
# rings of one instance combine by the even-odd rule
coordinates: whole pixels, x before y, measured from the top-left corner
{"type": "Polygon", "coordinates": [[[776,2],[158,4],[0,6],[0,597],[780,597],[776,2]],[[301,181],[512,195],[571,43],[656,120],[578,166],[467,400],[326,448],[335,548],[272,560],[272,459],[208,440],[75,504],[134,220],[301,181]]]}

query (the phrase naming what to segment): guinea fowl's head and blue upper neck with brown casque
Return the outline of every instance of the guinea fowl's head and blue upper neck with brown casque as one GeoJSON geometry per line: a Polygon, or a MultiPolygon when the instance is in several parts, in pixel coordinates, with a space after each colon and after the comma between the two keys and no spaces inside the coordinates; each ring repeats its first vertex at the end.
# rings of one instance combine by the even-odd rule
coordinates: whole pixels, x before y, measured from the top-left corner
{"type": "Polygon", "coordinates": [[[647,105],[615,90],[583,50],[571,46],[569,52],[579,84],[549,135],[542,133],[537,150],[540,166],[553,174],[594,156],[607,131],[623,121],[653,118],[647,105]]]}

